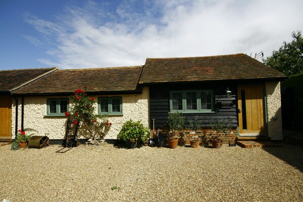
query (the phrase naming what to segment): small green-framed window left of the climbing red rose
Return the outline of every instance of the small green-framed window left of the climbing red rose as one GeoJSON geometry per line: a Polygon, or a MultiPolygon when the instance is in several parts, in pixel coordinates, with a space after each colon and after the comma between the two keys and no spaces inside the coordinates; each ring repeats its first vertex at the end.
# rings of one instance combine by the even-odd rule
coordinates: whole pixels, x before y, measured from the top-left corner
{"type": "Polygon", "coordinates": [[[68,98],[47,99],[47,115],[61,116],[68,111],[68,98]]]}

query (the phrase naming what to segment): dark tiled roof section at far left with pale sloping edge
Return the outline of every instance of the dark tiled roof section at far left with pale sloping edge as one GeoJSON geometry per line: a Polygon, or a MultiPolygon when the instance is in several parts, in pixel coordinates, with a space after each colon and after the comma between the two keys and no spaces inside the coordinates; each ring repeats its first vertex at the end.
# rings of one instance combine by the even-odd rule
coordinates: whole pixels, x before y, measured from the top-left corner
{"type": "Polygon", "coordinates": [[[0,92],[9,92],[56,69],[56,67],[52,67],[40,69],[0,70],[0,92]]]}

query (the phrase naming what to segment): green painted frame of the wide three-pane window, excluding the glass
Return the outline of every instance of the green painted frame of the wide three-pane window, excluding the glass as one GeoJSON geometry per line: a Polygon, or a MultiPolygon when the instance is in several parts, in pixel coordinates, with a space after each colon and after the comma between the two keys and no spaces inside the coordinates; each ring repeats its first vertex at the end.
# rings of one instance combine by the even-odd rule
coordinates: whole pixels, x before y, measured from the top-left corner
{"type": "Polygon", "coordinates": [[[213,90],[182,90],[182,91],[170,91],[169,97],[169,108],[170,112],[182,112],[182,113],[214,113],[215,106],[215,98],[213,90]],[[211,93],[211,109],[201,109],[201,92],[210,92],[211,93]],[[181,93],[182,94],[182,109],[175,110],[173,109],[173,93],[181,93]],[[187,101],[186,101],[186,93],[196,93],[197,98],[197,109],[187,109],[187,101]]]}

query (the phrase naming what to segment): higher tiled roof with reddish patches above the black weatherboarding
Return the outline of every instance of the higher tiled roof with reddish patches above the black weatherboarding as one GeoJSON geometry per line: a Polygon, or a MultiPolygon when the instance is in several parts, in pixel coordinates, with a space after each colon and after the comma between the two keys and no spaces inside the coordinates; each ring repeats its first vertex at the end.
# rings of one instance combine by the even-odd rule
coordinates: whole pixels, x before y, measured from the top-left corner
{"type": "Polygon", "coordinates": [[[276,69],[245,54],[147,58],[139,84],[237,79],[284,79],[276,69]]]}

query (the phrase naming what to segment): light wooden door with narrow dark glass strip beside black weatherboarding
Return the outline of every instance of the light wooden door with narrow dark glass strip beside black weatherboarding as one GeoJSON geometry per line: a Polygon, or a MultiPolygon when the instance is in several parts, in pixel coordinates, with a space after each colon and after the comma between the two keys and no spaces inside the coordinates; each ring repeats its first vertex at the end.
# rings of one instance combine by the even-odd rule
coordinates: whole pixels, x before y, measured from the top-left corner
{"type": "Polygon", "coordinates": [[[240,136],[266,135],[262,85],[238,86],[240,136]]]}

